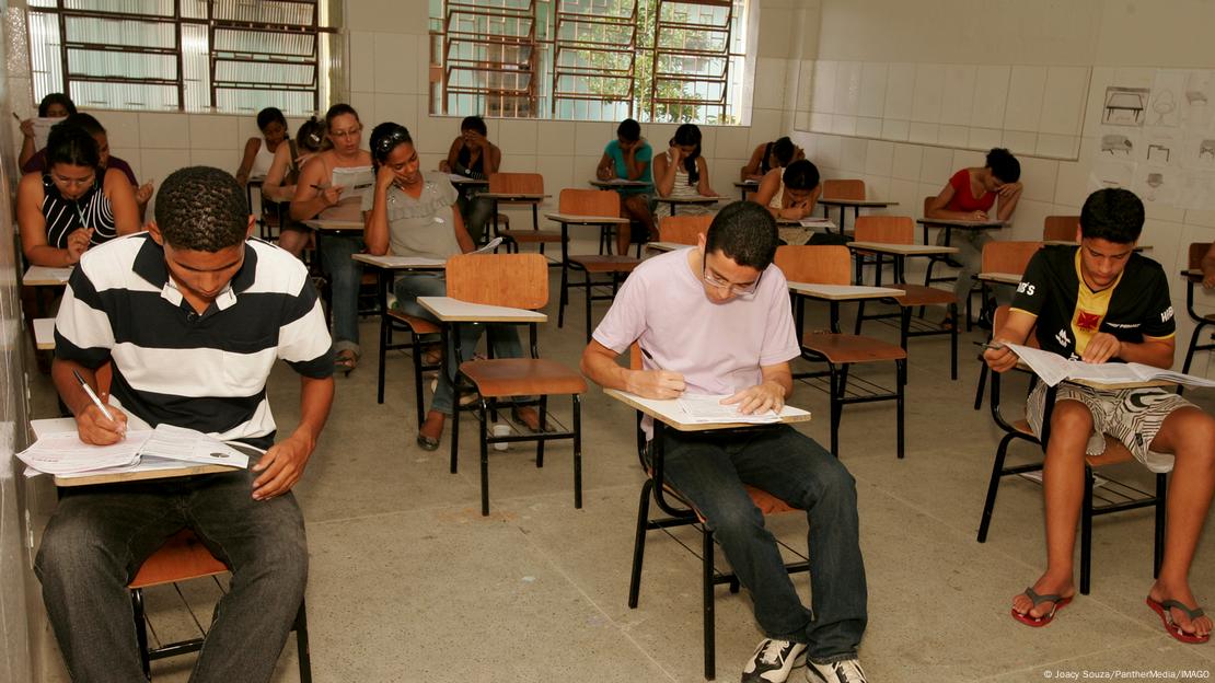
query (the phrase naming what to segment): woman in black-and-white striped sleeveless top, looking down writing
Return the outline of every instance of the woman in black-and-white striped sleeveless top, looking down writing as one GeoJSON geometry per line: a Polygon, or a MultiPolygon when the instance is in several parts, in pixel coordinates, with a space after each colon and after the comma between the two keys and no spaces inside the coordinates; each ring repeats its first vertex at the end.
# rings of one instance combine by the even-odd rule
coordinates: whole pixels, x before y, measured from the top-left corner
{"type": "Polygon", "coordinates": [[[45,174],[17,185],[17,225],[26,260],[64,267],[90,247],[140,230],[139,207],[123,171],[101,165],[97,141],[83,128],[56,124],[46,142],[45,174]]]}

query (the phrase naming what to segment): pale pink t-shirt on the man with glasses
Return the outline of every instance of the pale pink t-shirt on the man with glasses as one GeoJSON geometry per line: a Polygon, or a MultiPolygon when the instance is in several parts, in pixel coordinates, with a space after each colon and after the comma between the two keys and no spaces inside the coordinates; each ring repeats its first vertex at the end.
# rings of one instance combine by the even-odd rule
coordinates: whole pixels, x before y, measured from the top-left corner
{"type": "Polygon", "coordinates": [[[645,369],[684,376],[691,394],[734,394],[759,384],[762,366],[801,355],[785,273],[768,266],[753,297],[714,304],[688,249],[646,260],[625,281],[595,342],[622,354],[640,340],[645,369]]]}

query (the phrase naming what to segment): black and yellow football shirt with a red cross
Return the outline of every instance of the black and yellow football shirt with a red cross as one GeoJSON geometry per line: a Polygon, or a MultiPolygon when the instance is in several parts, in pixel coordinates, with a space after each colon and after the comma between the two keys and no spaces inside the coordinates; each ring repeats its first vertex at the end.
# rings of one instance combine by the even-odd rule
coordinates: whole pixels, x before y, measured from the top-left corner
{"type": "Polygon", "coordinates": [[[1132,344],[1176,333],[1164,269],[1138,253],[1112,286],[1094,292],[1080,275],[1079,247],[1045,247],[1025,266],[1012,307],[1038,318],[1042,349],[1073,360],[1098,332],[1132,344]]]}

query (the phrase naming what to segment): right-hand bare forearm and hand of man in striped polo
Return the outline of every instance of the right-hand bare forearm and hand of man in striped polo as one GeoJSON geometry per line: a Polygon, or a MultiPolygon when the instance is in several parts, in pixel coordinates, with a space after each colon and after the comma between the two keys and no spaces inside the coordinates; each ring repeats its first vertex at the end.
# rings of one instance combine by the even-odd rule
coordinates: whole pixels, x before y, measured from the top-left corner
{"type": "Polygon", "coordinates": [[[275,444],[253,465],[261,475],[253,481],[253,498],[265,501],[281,496],[304,475],[304,468],[316,448],[316,441],[333,405],[333,377],[300,377],[300,423],[290,436],[275,444]]]}

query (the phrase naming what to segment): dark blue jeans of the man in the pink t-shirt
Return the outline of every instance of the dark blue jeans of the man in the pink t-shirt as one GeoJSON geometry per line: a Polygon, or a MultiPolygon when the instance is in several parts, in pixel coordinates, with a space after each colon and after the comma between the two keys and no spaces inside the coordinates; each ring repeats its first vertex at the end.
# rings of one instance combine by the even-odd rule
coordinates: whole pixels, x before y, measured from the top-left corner
{"type": "Polygon", "coordinates": [[[787,425],[720,435],[665,430],[665,478],[705,515],[764,634],[807,643],[824,664],[857,656],[868,589],[860,557],[857,487],[816,441],[787,425]],[[810,609],[802,605],[750,484],[806,510],[810,609]]]}

